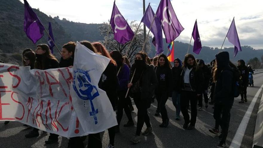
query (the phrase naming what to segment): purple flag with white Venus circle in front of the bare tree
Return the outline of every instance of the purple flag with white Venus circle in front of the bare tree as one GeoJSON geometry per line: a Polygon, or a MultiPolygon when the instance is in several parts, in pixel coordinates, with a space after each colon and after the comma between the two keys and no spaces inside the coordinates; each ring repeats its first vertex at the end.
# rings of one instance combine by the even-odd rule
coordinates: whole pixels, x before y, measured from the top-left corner
{"type": "Polygon", "coordinates": [[[126,42],[132,40],[134,33],[115,5],[115,1],[111,13],[110,24],[113,29],[114,39],[120,44],[125,44],[126,42]]]}

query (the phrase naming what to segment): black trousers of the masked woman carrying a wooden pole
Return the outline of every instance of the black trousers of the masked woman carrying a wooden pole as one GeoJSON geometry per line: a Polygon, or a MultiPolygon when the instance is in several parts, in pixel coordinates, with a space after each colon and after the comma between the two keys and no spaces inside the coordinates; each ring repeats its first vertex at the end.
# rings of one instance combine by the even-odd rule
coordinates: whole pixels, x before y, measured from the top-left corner
{"type": "Polygon", "coordinates": [[[147,112],[147,109],[150,107],[151,99],[141,99],[141,94],[136,93],[133,94],[133,100],[138,109],[136,135],[140,136],[144,123],[147,127],[151,127],[150,118],[147,112]]]}

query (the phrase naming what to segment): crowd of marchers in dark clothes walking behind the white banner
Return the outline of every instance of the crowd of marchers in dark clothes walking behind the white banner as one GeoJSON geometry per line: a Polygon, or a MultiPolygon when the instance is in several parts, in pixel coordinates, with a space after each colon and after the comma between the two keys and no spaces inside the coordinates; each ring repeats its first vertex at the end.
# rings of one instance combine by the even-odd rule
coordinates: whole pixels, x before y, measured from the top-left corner
{"type": "MultiPolygon", "coordinates": [[[[132,100],[138,110],[137,129],[131,142],[140,142],[140,135],[148,135],[153,132],[147,109],[151,103],[157,100],[158,107],[155,116],[161,116],[160,128],[169,126],[169,117],[166,110],[166,102],[172,97],[172,103],[176,108],[176,119],[181,120],[183,115],[186,130],[195,129],[197,110],[203,109],[203,97],[205,107],[214,105],[215,127],[209,129],[215,135],[219,135],[220,142],[217,147],[225,147],[230,122],[230,110],[233,106],[234,97],[241,95],[239,103],[247,102],[248,74],[250,69],[244,60],[238,60],[238,66],[230,62],[229,53],[226,51],[215,55],[215,59],[206,65],[204,60],[195,59],[192,54],[186,54],[184,59],[176,58],[173,66],[166,55],[150,59],[144,52],[135,55],[135,60],[130,65],[129,59],[119,51],[109,52],[100,42],[80,42],[94,53],[110,58],[110,62],[103,72],[99,88],[103,89],[117,112],[117,126],[108,129],[110,142],[108,148],[114,147],[115,134],[120,131],[123,110],[128,118],[124,127],[134,126],[131,111],[134,111],[132,100]],[[236,83],[239,82],[239,86],[236,83]],[[126,92],[129,93],[126,97],[126,92]],[[210,94],[210,95],[209,95],[210,94]],[[210,102],[209,99],[211,99],[210,102]],[[190,105],[189,105],[190,103],[190,105]],[[198,107],[197,107],[198,106],[198,107]],[[188,113],[191,109],[191,118],[188,113]],[[147,128],[142,132],[144,123],[147,128]],[[221,132],[219,132],[219,126],[221,132]]],[[[50,52],[48,45],[39,44],[35,51],[25,49],[23,65],[31,69],[50,69],[72,67],[74,63],[74,50],[76,43],[68,42],[63,45],[60,61],[50,52]]],[[[7,124],[9,121],[6,121],[7,124]]],[[[30,127],[23,125],[25,127],[30,127]]],[[[25,135],[26,138],[38,137],[38,129],[33,128],[25,135]]],[[[68,147],[84,147],[86,137],[70,138],[68,147]]],[[[58,135],[50,134],[46,144],[58,142],[58,135]]],[[[102,147],[100,133],[88,135],[88,148],[102,147]]]]}

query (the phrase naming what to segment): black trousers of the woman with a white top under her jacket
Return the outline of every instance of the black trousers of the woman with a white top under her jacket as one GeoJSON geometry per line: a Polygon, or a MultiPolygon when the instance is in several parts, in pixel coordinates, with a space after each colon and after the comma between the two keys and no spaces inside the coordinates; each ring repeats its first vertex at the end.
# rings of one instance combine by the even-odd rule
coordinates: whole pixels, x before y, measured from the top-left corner
{"type": "Polygon", "coordinates": [[[181,92],[181,112],[184,116],[184,122],[195,125],[197,116],[197,94],[192,91],[181,92]],[[188,114],[189,101],[191,103],[191,120],[188,114]]]}

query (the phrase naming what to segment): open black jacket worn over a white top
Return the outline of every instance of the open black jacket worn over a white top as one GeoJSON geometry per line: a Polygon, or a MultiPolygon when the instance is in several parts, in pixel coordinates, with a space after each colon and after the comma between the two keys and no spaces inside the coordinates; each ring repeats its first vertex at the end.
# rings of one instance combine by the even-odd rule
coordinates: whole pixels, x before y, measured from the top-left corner
{"type": "MultiPolygon", "coordinates": [[[[183,68],[181,77],[180,77],[180,90],[184,88],[184,74],[185,74],[185,69],[186,67],[183,68]]],[[[190,81],[190,86],[192,91],[196,91],[197,94],[202,94],[203,92],[203,85],[204,85],[204,75],[202,73],[202,70],[198,68],[196,70],[195,67],[193,67],[192,71],[189,73],[189,81],[190,81]]]]}

